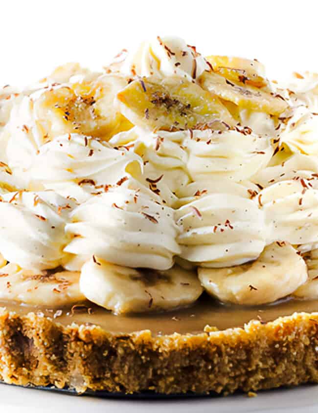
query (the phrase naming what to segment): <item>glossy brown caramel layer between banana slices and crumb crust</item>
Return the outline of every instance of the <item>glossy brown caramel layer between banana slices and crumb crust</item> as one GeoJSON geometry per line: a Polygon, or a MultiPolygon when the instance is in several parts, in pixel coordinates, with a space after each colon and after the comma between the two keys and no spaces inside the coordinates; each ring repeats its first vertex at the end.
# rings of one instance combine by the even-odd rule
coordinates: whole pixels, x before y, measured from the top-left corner
{"type": "Polygon", "coordinates": [[[189,308],[164,313],[119,316],[91,303],[85,303],[85,306],[74,306],[72,309],[70,307],[48,309],[7,302],[0,302],[0,307],[6,307],[9,311],[15,311],[19,314],[41,311],[45,316],[54,317],[57,322],[63,325],[70,325],[73,322],[77,324],[91,323],[113,333],[130,333],[149,329],[153,334],[172,334],[174,332],[185,334],[201,332],[206,325],[224,330],[230,327],[241,327],[250,320],[268,322],[281,316],[291,315],[294,312],[315,312],[318,311],[318,300],[289,299],[275,304],[247,307],[220,304],[203,296],[189,308]]]}

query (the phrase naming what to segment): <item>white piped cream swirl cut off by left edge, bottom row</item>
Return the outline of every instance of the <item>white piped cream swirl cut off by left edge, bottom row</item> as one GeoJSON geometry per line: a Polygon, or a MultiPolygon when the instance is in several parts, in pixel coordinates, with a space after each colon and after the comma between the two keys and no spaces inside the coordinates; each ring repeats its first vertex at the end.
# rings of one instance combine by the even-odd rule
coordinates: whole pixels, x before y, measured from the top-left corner
{"type": "Polygon", "coordinates": [[[33,271],[61,265],[67,259],[65,225],[73,208],[73,201],[53,191],[2,195],[0,253],[33,271]]]}

